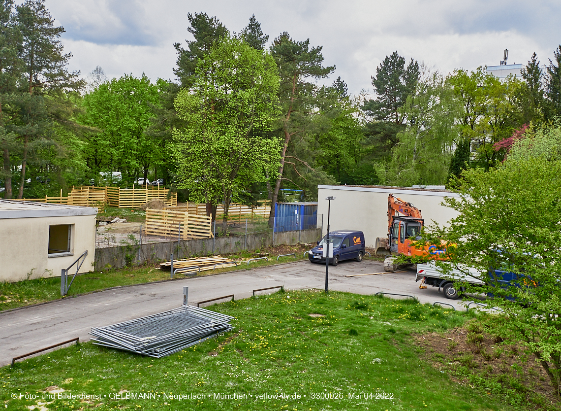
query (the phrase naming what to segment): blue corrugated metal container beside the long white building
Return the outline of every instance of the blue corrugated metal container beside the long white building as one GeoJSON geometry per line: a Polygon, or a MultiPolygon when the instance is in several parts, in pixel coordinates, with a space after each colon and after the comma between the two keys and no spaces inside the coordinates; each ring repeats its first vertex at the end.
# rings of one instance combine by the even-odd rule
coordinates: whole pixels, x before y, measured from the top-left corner
{"type": "Polygon", "coordinates": [[[318,203],[275,204],[275,232],[315,229],[318,203]]]}

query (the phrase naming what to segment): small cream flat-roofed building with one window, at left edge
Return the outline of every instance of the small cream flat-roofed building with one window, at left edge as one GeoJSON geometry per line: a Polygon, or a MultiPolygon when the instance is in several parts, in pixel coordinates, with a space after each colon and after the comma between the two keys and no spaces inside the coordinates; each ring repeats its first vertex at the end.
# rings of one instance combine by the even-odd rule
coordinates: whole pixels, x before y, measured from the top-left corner
{"type": "Polygon", "coordinates": [[[0,199],[0,281],[59,276],[86,250],[79,272],[93,271],[96,215],[92,207],[0,199]]]}

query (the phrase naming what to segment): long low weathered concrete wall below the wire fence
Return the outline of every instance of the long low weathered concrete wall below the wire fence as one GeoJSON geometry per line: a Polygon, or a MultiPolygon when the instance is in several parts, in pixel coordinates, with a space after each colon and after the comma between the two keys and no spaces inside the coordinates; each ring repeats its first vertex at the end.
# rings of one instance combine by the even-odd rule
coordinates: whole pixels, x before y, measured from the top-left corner
{"type": "MultiPolygon", "coordinates": [[[[320,239],[320,234],[321,229],[279,232],[275,233],[274,244],[315,243],[320,239]]],[[[264,250],[272,244],[273,235],[271,232],[250,234],[247,235],[247,239],[244,239],[244,236],[218,237],[214,240],[214,254],[237,253],[245,248],[249,251],[264,250]]],[[[168,261],[171,253],[173,253],[174,259],[212,255],[213,239],[182,240],[179,245],[177,241],[173,241],[171,243],[142,244],[142,246],[98,248],[95,250],[95,268],[96,270],[103,270],[107,266],[122,268],[130,266],[132,263],[168,261]]]]}

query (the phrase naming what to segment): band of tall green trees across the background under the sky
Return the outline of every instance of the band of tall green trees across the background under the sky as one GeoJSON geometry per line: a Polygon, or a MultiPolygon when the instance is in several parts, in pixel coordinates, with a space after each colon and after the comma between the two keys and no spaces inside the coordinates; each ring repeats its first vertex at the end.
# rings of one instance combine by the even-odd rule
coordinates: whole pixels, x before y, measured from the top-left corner
{"type": "Polygon", "coordinates": [[[2,0],[3,197],[162,179],[214,206],[315,200],[318,184],[450,186],[465,168],[500,165],[517,140],[561,141],[561,45],[504,80],[394,52],[373,67],[373,96],[350,95],[341,77],[321,84],[335,66],[309,40],[269,41],[255,16],[239,33],[204,12],[188,23],[175,79],[96,67],[85,81],[43,0],[2,0]]]}

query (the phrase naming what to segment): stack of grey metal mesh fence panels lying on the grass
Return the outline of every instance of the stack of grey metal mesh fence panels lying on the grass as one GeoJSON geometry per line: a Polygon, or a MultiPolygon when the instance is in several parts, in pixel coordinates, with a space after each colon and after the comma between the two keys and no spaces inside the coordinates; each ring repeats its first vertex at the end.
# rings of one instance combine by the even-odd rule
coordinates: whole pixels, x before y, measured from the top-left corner
{"type": "Polygon", "coordinates": [[[92,327],[93,343],[161,358],[233,329],[231,316],[183,305],[153,316],[92,327]]]}

